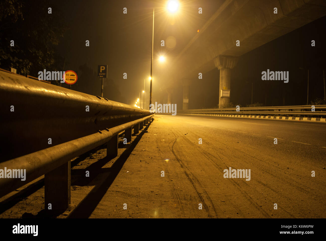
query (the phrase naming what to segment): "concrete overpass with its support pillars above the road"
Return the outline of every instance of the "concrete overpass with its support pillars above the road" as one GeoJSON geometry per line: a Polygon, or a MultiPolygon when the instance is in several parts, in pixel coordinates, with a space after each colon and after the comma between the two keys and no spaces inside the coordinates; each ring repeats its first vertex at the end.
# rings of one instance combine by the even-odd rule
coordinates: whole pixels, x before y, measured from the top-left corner
{"type": "Polygon", "coordinates": [[[170,85],[184,86],[183,109],[188,108],[189,80],[214,68],[220,71],[219,108],[228,106],[230,97],[221,98],[220,91],[230,90],[240,56],[325,15],[325,0],[226,0],[173,64],[170,85]]]}

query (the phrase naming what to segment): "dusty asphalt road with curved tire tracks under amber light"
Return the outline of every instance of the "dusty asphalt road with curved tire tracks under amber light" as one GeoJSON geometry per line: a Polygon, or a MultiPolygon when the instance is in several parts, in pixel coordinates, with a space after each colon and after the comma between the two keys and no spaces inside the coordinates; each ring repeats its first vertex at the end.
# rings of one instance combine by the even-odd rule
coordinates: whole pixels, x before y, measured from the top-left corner
{"type": "MultiPolygon", "coordinates": [[[[71,162],[59,218],[325,218],[325,134],[323,123],[155,115],[111,161],[102,146],[71,162]],[[224,178],[229,167],[250,180],[224,178]]],[[[41,178],[30,196],[0,199],[0,217],[42,217],[41,178]]]]}

